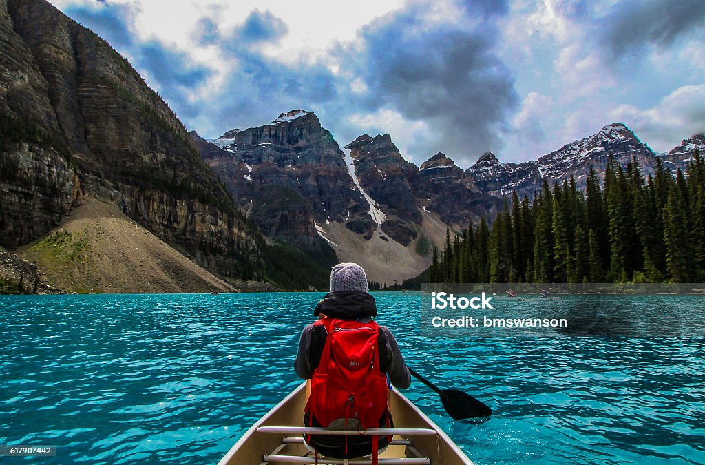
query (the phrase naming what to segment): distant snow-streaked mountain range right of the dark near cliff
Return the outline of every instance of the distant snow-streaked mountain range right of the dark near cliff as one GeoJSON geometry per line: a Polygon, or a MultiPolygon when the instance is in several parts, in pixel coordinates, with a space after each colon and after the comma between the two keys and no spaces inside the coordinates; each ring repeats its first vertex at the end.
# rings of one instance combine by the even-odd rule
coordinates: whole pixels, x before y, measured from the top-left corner
{"type": "Polygon", "coordinates": [[[364,134],[341,147],[313,112],[302,109],[217,139],[191,137],[265,236],[304,249],[323,239],[339,260],[360,262],[387,284],[423,270],[429,244],[443,243],[446,227],[458,231],[483,217],[491,221],[513,191],[532,198],[544,180],[552,185],[570,178],[584,188],[590,167],[601,174],[610,157],[623,167],[636,159],[645,176],[661,159],[675,174],[705,148],[705,137],[695,135],[657,154],[627,126],[613,123],[520,164],[487,152],[463,170],[437,153],[417,167],[390,135],[364,134]]]}

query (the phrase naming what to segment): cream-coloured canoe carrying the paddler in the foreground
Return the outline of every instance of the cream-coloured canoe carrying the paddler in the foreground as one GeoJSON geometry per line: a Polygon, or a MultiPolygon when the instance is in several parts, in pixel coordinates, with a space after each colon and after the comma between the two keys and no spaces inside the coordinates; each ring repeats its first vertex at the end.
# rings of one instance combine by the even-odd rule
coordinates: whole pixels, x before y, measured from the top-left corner
{"type": "MultiPolygon", "coordinates": [[[[323,430],[305,428],[303,425],[305,386],[306,383],[302,383],[252,425],[218,464],[372,464],[369,457],[347,461],[321,456],[316,459],[313,452],[305,447],[304,434],[323,430]]],[[[391,392],[390,411],[395,428],[369,429],[366,432],[393,436],[391,444],[379,455],[379,465],[472,465],[460,447],[396,389],[391,392]]],[[[330,433],[326,431],[326,434],[330,433]]]]}

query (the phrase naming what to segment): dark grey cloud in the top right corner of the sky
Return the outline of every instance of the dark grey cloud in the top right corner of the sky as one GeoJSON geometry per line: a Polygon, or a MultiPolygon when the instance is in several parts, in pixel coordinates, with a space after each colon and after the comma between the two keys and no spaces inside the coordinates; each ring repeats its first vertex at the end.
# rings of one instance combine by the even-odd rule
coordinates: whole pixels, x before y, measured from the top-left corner
{"type": "Polygon", "coordinates": [[[705,1],[649,0],[623,3],[603,18],[605,44],[614,56],[639,52],[646,45],[668,47],[679,37],[705,32],[705,1]]]}

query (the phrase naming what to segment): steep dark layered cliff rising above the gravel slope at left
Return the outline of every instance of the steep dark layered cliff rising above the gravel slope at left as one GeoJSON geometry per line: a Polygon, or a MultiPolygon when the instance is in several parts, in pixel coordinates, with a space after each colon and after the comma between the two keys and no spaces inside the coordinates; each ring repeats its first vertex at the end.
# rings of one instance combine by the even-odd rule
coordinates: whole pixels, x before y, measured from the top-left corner
{"type": "Polygon", "coordinates": [[[210,270],[242,275],[257,233],[130,64],[44,0],[0,0],[0,241],[107,200],[210,270]]]}

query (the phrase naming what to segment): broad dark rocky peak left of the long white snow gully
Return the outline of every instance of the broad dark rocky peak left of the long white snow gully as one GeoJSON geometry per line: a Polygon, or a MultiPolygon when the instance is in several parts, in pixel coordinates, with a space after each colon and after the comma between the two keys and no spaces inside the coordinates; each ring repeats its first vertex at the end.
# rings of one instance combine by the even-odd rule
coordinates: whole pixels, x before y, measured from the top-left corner
{"type": "Polygon", "coordinates": [[[266,236],[320,248],[325,242],[317,224],[372,227],[343,152],[313,112],[289,111],[264,126],[233,129],[216,140],[192,137],[238,207],[266,236]]]}

